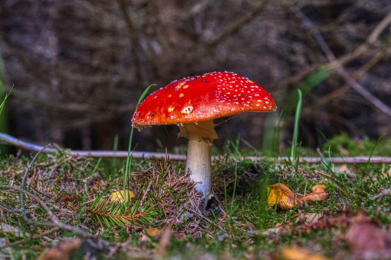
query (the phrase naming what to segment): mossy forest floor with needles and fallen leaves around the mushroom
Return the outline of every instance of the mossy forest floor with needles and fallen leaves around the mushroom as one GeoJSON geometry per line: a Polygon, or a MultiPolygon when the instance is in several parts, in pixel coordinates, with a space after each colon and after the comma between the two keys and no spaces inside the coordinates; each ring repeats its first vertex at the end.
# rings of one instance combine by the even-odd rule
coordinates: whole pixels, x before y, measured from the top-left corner
{"type": "Polygon", "coordinates": [[[168,158],[1,157],[0,259],[391,259],[390,165],[328,160],[390,150],[346,135],[321,164],[227,149],[206,211],[168,158]]]}

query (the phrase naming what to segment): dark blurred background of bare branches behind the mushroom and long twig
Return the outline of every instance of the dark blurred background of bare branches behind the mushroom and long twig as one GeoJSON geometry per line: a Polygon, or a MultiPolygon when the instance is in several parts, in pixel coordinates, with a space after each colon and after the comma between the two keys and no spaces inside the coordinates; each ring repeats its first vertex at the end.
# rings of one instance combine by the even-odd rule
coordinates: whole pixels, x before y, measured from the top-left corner
{"type": "MultiPolygon", "coordinates": [[[[269,91],[278,110],[217,126],[218,148],[239,134],[262,145],[284,109],[283,148],[298,87],[304,145],[319,146],[320,132],[390,137],[390,12],[389,0],[2,0],[2,96],[14,85],[2,131],[85,150],[111,150],[118,134],[118,149],[126,150],[148,85],[233,71],[269,91]]],[[[186,143],[177,132],[175,125],[136,131],[136,150],[172,150],[186,143]]]]}

